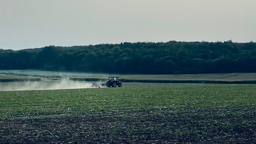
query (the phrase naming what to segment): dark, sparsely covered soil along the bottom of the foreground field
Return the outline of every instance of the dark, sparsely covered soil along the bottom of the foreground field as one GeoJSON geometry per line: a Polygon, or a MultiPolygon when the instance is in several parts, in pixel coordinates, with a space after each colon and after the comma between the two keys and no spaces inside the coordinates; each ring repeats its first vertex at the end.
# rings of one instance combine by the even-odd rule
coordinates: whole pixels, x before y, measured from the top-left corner
{"type": "Polygon", "coordinates": [[[68,118],[0,120],[0,143],[255,144],[255,112],[228,115],[228,109],[141,109],[88,112],[68,118]]]}

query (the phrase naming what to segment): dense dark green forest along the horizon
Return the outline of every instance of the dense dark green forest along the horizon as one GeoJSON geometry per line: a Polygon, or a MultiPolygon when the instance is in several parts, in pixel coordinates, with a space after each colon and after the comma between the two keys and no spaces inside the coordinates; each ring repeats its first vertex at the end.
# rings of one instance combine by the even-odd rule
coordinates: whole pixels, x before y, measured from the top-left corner
{"type": "Polygon", "coordinates": [[[126,42],[0,49],[0,69],[138,74],[256,72],[256,43],[126,42]]]}

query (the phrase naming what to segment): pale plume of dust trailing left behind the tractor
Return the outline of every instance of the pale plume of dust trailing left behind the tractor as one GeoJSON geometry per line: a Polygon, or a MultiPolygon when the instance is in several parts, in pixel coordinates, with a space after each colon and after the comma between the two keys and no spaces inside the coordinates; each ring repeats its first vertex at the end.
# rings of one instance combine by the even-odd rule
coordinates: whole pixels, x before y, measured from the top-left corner
{"type": "Polygon", "coordinates": [[[0,91],[30,91],[78,88],[92,88],[92,83],[71,80],[0,83],[0,91]]]}

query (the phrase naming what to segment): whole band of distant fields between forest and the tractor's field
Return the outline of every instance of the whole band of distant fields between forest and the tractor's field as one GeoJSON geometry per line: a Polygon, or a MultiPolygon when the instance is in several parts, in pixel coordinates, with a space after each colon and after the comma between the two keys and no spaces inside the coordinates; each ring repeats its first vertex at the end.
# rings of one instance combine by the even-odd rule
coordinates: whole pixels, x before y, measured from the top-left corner
{"type": "Polygon", "coordinates": [[[106,80],[107,75],[118,75],[126,82],[158,83],[253,83],[256,84],[256,73],[217,73],[194,75],[120,75],[83,72],[50,72],[39,70],[0,70],[1,81],[33,81],[69,78],[80,81],[106,80]]]}

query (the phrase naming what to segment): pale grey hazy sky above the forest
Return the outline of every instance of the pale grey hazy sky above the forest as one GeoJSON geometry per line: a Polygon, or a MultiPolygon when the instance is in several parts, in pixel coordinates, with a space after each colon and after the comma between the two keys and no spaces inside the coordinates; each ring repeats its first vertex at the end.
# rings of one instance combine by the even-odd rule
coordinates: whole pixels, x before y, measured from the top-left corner
{"type": "Polygon", "coordinates": [[[256,41],[256,0],[0,0],[0,48],[256,41]]]}

